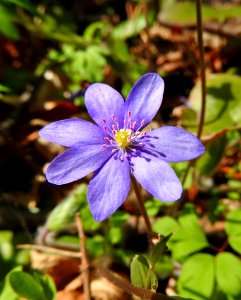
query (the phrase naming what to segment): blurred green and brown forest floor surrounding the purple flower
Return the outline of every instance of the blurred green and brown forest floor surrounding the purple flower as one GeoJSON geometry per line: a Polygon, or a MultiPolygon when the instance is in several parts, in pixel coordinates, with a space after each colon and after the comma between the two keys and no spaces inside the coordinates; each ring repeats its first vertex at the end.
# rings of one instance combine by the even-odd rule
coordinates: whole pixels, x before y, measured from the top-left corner
{"type": "MultiPolygon", "coordinates": [[[[153,230],[166,235],[177,229],[156,265],[157,291],[238,300],[241,1],[203,1],[202,14],[207,107],[201,140],[207,152],[192,164],[173,164],[184,185],[180,201],[167,205],[141,192],[153,230]]],[[[0,0],[1,300],[84,299],[75,281],[78,211],[94,299],[134,299],[96,273],[107,266],[128,279],[134,254],[148,250],[133,192],[109,220],[95,222],[86,202],[90,177],[64,186],[46,182],[47,164],[64,148],[38,131],[60,119],[90,120],[84,104],[89,84],[105,82],[126,97],[146,72],[165,81],[152,127],[175,125],[196,134],[201,83],[195,1],[0,0]],[[58,252],[63,250],[72,254],[58,252]],[[19,288],[26,282],[36,288],[34,296],[19,288]]]]}

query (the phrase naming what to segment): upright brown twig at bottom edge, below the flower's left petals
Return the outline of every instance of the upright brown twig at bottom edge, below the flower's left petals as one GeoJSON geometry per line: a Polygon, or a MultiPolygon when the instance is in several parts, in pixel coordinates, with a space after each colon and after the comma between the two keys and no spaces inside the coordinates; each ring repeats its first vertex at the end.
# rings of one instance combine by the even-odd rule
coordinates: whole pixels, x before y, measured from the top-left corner
{"type": "Polygon", "coordinates": [[[85,300],[91,300],[89,262],[86,252],[84,228],[79,213],[76,214],[75,220],[80,238],[80,252],[82,254],[81,271],[83,274],[84,297],[85,300]]]}

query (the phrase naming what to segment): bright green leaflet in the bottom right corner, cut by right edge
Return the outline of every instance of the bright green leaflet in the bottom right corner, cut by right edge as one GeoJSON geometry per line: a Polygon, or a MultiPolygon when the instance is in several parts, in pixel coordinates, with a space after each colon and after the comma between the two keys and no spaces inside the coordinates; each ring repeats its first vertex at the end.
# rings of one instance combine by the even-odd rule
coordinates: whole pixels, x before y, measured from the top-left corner
{"type": "Polygon", "coordinates": [[[216,277],[225,294],[241,295],[241,262],[234,254],[223,252],[216,256],[216,277]]]}

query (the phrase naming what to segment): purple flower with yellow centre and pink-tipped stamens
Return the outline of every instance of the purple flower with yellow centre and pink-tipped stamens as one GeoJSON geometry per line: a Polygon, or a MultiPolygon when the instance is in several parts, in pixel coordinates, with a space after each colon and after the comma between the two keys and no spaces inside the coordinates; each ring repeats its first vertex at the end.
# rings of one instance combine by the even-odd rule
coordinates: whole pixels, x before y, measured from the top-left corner
{"type": "Polygon", "coordinates": [[[92,84],[85,93],[85,104],[96,125],[74,118],[40,130],[44,139],[69,147],[50,163],[47,180],[61,185],[95,171],[88,202],[97,221],[122,205],[131,174],[158,199],[178,200],[182,185],[168,163],[196,158],[205,148],[182,128],[145,129],[160,108],[163,91],[164,82],[156,73],[142,76],[125,102],[112,87],[92,84]]]}

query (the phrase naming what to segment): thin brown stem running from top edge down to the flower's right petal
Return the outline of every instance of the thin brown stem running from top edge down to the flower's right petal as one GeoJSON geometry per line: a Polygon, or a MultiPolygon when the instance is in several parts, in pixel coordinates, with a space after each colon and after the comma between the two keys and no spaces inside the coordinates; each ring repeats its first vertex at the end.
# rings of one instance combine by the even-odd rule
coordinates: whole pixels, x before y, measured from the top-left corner
{"type": "Polygon", "coordinates": [[[196,0],[196,13],[197,13],[197,37],[198,47],[200,54],[200,76],[202,85],[202,106],[199,120],[199,127],[197,137],[200,138],[202,135],[204,117],[206,110],[206,76],[205,76],[205,61],[204,61],[204,47],[203,47],[203,24],[202,24],[202,0],[196,0]]]}

